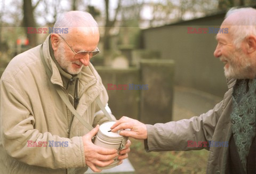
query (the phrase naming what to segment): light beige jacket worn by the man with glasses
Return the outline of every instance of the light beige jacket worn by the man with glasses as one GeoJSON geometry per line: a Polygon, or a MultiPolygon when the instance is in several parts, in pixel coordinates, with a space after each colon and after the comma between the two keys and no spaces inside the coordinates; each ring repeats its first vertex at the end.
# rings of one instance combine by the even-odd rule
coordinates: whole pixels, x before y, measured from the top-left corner
{"type": "MultiPolygon", "coordinates": [[[[40,47],[15,56],[0,80],[0,173],[84,173],[82,136],[89,130],[73,118],[54,89],[54,85],[63,84],[49,53],[49,37],[43,54],[51,77],[45,72],[40,47]],[[41,147],[28,147],[28,141],[41,147]],[[50,147],[49,141],[60,143],[50,147]]],[[[93,126],[107,121],[103,114],[94,118],[100,110],[94,101],[98,95],[106,105],[106,89],[90,64],[82,69],[79,79],[77,112],[93,126]]],[[[73,102],[71,95],[69,98],[73,102]]]]}

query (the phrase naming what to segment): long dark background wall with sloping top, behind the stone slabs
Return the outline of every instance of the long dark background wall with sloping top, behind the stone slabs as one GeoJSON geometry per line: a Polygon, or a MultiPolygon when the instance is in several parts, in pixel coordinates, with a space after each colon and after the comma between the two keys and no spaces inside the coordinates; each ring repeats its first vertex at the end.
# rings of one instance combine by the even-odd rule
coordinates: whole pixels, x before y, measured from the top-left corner
{"type": "MultiPolygon", "coordinates": [[[[161,59],[175,61],[175,85],[223,96],[227,90],[223,64],[213,56],[216,34],[189,34],[188,27],[219,28],[225,13],[142,31],[145,49],[159,51],[161,59]]],[[[207,30],[208,31],[208,30],[207,30]]]]}

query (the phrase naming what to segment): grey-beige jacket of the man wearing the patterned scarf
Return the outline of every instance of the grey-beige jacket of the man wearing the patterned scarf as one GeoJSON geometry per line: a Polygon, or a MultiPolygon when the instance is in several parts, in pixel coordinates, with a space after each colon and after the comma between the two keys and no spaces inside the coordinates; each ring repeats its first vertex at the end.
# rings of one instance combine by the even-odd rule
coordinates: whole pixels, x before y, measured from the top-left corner
{"type": "Polygon", "coordinates": [[[146,125],[148,139],[145,147],[150,151],[189,151],[210,150],[206,173],[226,173],[228,146],[188,147],[188,140],[193,142],[229,142],[231,136],[230,113],[231,94],[235,80],[228,81],[228,92],[215,107],[191,119],[146,125]]]}

